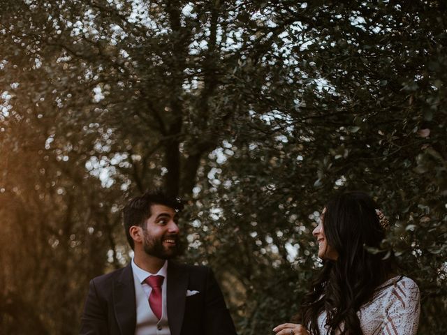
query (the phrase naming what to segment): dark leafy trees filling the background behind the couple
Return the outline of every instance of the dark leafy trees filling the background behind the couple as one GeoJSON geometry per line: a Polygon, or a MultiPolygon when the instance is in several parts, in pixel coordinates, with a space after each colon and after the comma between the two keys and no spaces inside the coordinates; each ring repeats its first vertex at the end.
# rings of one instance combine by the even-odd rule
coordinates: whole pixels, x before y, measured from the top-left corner
{"type": "Polygon", "coordinates": [[[298,310],[345,189],[381,204],[420,334],[444,332],[444,1],[3,3],[1,329],[75,334],[89,278],[129,260],[124,198],[164,185],[240,334],[298,310]]]}

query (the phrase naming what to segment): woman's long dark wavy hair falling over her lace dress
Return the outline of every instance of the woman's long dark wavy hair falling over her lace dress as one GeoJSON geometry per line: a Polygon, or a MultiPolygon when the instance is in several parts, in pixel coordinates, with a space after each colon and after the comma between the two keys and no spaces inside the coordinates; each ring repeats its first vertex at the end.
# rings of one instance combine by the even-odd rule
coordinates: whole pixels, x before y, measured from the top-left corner
{"type": "Polygon", "coordinates": [[[372,299],[374,290],[393,272],[392,258],[383,260],[379,248],[385,232],[376,214],[377,204],[362,192],[337,195],[326,205],[323,230],[337,260],[323,260],[297,315],[312,335],[320,335],[318,315],[326,311],[329,334],[363,334],[357,312],[372,299]]]}

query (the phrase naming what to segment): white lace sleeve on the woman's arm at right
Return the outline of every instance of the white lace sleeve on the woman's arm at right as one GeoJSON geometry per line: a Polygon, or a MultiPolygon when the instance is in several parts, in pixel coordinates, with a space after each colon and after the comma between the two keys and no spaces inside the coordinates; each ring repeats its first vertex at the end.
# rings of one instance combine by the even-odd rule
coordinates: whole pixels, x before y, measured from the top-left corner
{"type": "Polygon", "coordinates": [[[402,278],[393,285],[390,303],[382,327],[382,335],[416,335],[420,314],[418,285],[402,278]]]}

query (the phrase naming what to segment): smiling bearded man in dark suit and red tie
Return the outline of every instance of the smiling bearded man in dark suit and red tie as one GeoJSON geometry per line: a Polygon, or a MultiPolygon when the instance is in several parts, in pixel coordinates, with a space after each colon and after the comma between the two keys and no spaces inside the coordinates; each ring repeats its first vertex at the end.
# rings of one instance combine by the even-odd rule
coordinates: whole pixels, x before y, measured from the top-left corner
{"type": "Polygon", "coordinates": [[[181,209],[178,198],[159,191],[129,201],[124,228],[133,259],[90,281],[80,334],[236,334],[211,269],[170,260],[181,209]]]}

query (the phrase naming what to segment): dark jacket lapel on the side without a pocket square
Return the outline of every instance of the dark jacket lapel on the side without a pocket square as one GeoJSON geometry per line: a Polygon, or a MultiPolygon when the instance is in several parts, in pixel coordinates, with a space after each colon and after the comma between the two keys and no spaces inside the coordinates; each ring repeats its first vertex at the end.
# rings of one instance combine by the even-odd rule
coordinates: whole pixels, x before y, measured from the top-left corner
{"type": "Polygon", "coordinates": [[[122,274],[114,283],[113,305],[121,334],[134,334],[137,312],[133,272],[130,264],[123,269],[122,274]]]}

